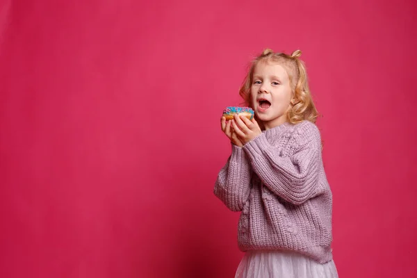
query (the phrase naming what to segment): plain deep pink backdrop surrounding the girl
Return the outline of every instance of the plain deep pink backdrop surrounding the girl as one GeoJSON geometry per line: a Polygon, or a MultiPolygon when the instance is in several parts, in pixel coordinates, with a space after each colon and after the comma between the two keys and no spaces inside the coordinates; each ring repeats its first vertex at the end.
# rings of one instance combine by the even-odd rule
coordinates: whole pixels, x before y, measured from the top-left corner
{"type": "Polygon", "coordinates": [[[0,2],[0,277],[233,277],[250,58],[303,51],[340,277],[416,277],[417,2],[0,2]]]}

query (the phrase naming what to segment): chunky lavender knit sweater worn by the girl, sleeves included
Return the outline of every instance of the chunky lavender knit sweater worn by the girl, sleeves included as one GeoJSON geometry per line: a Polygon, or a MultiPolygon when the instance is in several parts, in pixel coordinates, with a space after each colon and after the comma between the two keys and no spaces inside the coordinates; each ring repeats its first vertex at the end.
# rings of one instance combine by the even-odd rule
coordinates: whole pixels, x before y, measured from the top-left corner
{"type": "Polygon", "coordinates": [[[232,152],[214,194],[242,211],[240,250],[293,250],[332,260],[332,192],[316,124],[281,124],[232,152]]]}

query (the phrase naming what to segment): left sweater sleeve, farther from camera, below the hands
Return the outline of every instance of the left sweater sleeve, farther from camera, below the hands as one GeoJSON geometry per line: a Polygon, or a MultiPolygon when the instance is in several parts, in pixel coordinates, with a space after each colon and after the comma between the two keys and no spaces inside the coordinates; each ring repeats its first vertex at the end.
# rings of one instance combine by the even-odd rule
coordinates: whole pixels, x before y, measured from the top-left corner
{"type": "Polygon", "coordinates": [[[232,144],[231,156],[215,181],[214,194],[231,211],[242,211],[250,193],[250,163],[245,151],[232,144]]]}

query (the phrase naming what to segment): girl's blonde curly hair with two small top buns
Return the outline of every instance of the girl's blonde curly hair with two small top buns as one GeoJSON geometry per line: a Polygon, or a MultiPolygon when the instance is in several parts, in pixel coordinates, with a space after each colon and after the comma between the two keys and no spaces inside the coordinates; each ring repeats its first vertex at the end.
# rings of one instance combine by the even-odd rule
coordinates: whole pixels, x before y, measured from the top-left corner
{"type": "MultiPolygon", "coordinates": [[[[311,97],[306,67],[302,60],[300,60],[300,56],[300,50],[296,50],[293,54],[288,55],[279,52],[275,53],[271,49],[265,49],[260,56],[252,60],[249,72],[245,76],[239,90],[239,95],[245,100],[245,105],[254,108],[250,101],[250,89],[252,87],[255,66],[259,62],[278,63],[286,70],[291,84],[291,91],[293,92],[290,102],[291,107],[287,113],[287,121],[291,124],[297,124],[303,120],[316,123],[318,111],[311,97]]],[[[259,120],[257,121],[260,122],[259,120]]],[[[262,123],[260,122],[260,124],[262,123]]]]}

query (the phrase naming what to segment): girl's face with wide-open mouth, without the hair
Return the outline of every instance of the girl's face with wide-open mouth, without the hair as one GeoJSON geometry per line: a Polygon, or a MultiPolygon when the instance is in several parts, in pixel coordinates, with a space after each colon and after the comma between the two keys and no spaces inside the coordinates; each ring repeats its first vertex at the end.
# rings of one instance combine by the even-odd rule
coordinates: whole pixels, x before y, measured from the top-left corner
{"type": "Polygon", "coordinates": [[[284,67],[277,63],[257,63],[250,89],[252,106],[265,129],[286,122],[292,97],[290,80],[284,67]]]}

